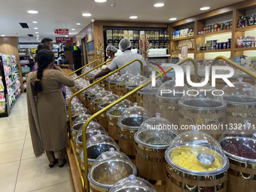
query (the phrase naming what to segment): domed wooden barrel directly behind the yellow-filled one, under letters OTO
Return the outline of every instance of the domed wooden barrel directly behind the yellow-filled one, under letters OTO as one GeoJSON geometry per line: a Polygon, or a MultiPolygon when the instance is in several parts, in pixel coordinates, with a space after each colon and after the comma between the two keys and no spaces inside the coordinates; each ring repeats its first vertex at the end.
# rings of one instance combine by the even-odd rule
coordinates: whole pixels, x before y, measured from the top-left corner
{"type": "Polygon", "coordinates": [[[225,124],[225,108],[220,90],[210,87],[190,87],[178,101],[179,127],[184,131],[191,125],[197,125],[215,139],[218,139],[224,129],[218,129],[225,124]]]}

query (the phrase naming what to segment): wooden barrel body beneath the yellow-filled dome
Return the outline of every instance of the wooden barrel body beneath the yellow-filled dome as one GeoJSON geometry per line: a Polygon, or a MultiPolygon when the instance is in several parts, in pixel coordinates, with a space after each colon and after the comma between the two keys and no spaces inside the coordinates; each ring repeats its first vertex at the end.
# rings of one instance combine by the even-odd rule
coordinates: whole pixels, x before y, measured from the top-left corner
{"type": "MultiPolygon", "coordinates": [[[[177,169],[166,163],[166,192],[226,192],[227,172],[219,175],[197,176],[179,172],[177,169]],[[216,190],[217,189],[217,190],[216,190]]],[[[247,191],[247,190],[234,190],[247,191]]]]}

